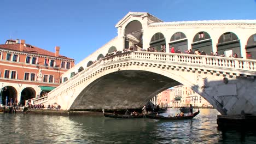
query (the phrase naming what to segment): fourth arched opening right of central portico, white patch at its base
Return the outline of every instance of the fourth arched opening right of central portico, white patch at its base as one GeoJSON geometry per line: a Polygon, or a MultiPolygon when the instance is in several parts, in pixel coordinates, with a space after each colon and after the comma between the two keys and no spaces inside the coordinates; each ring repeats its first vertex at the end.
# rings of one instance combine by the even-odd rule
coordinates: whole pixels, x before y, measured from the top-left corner
{"type": "Polygon", "coordinates": [[[217,51],[219,55],[226,57],[232,57],[234,53],[236,53],[238,57],[241,57],[240,40],[236,34],[226,32],[219,37],[217,51]]]}

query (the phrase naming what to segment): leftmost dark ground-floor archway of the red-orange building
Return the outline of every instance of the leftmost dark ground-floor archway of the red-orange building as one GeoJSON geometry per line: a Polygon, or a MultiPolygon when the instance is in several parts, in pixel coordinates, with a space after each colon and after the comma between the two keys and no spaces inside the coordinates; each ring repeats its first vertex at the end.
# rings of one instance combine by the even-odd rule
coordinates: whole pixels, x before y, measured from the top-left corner
{"type": "Polygon", "coordinates": [[[7,105],[10,105],[11,102],[18,102],[17,91],[12,86],[5,86],[2,88],[2,104],[5,105],[7,103],[7,105]]]}

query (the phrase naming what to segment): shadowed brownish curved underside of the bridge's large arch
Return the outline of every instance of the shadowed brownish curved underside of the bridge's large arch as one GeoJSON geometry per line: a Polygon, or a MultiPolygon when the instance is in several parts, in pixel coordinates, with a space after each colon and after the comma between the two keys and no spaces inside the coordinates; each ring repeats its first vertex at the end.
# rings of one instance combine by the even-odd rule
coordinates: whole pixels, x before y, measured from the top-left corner
{"type": "Polygon", "coordinates": [[[70,110],[135,109],[156,94],[181,83],[142,70],[119,70],[91,82],[77,96],[70,110]]]}

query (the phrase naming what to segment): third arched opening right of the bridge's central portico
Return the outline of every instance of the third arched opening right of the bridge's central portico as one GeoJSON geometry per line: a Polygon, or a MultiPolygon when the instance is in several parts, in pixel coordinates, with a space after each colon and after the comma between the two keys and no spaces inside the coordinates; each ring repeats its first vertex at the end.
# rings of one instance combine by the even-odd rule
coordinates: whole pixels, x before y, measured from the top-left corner
{"type": "Polygon", "coordinates": [[[205,51],[210,55],[212,51],[212,39],[207,32],[199,32],[195,35],[193,43],[191,44],[192,50],[200,52],[205,51]]]}

